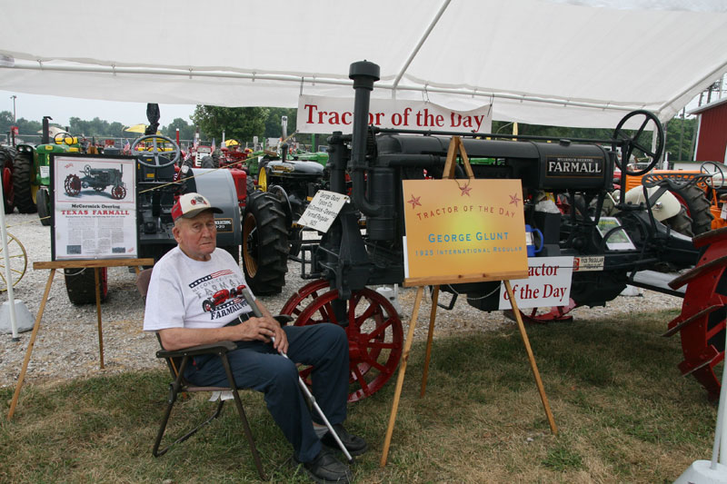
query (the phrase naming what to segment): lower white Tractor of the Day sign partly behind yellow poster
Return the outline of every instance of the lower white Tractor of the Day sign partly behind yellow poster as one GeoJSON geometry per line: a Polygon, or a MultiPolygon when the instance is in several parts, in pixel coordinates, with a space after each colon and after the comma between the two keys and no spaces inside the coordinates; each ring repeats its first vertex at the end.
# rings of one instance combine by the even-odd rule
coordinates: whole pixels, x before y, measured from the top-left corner
{"type": "MultiPolygon", "coordinates": [[[[527,279],[511,281],[517,307],[565,306],[571,298],[573,257],[531,257],[527,279]]],[[[500,285],[500,308],[509,310],[504,284],[500,285]]]]}

